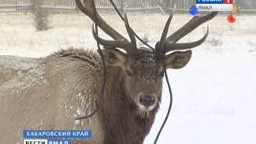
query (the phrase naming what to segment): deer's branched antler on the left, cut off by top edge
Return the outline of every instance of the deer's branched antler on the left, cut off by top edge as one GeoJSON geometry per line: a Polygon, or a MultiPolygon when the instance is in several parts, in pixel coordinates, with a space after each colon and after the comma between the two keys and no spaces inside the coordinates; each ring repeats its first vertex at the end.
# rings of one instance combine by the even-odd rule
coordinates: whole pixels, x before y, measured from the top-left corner
{"type": "Polygon", "coordinates": [[[80,2],[80,0],[76,0],[76,6],[88,17],[91,18],[94,22],[97,20],[97,24],[99,28],[102,29],[102,31],[106,32],[107,35],[109,35],[114,40],[106,40],[98,37],[95,32],[95,28],[92,27],[92,34],[94,35],[97,42],[99,42],[102,46],[105,48],[121,48],[127,52],[127,54],[133,54],[135,53],[135,50],[137,48],[135,36],[133,35],[132,28],[130,27],[128,23],[128,18],[126,15],[126,11],[124,12],[124,24],[125,28],[128,32],[128,35],[131,39],[131,42],[128,41],[128,39],[125,39],[123,35],[118,33],[116,30],[114,30],[112,27],[109,26],[109,24],[106,23],[105,20],[102,19],[102,17],[98,14],[97,11],[95,11],[95,3],[94,0],[83,0],[83,4],[80,2]],[[84,6],[83,6],[84,4],[84,6]]]}

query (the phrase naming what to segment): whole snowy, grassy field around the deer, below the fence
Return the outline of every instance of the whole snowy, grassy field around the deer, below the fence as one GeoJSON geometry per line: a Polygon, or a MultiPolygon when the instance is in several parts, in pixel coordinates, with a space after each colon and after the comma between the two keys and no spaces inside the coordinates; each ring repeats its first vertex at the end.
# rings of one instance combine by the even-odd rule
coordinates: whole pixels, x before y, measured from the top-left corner
{"type": "MultiPolygon", "coordinates": [[[[117,16],[103,17],[126,35],[117,16]]],[[[167,17],[128,15],[135,31],[152,46],[160,38],[167,17]]],[[[188,65],[168,71],[173,109],[159,144],[256,143],[256,17],[238,16],[235,24],[229,24],[226,17],[216,17],[180,41],[199,39],[209,25],[207,42],[193,50],[188,65]]],[[[176,15],[170,32],[190,18],[176,15]]],[[[96,48],[91,20],[82,14],[51,16],[50,26],[48,31],[35,31],[32,15],[0,13],[0,54],[44,57],[69,46],[96,48]]],[[[154,142],[168,105],[164,83],[161,108],[145,144],[154,142]]]]}

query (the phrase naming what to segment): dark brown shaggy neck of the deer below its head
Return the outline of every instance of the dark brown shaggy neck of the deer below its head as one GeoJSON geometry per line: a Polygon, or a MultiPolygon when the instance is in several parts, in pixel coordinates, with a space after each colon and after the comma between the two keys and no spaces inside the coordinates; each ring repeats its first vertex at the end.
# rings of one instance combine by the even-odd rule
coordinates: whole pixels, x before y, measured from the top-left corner
{"type": "Polygon", "coordinates": [[[149,115],[141,117],[137,105],[125,89],[124,72],[121,68],[108,67],[104,104],[102,107],[104,143],[143,143],[150,131],[158,111],[153,109],[149,115]]]}

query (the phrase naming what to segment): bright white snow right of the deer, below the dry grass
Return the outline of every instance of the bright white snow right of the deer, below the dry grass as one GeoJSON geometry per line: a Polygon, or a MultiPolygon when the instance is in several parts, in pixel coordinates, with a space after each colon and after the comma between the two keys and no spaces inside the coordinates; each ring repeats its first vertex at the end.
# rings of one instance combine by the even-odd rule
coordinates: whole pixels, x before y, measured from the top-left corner
{"type": "MultiPolygon", "coordinates": [[[[189,65],[169,71],[173,109],[159,143],[256,143],[256,55],[242,51],[206,54],[195,52],[189,65]]],[[[165,85],[157,124],[169,105],[165,85]]]]}

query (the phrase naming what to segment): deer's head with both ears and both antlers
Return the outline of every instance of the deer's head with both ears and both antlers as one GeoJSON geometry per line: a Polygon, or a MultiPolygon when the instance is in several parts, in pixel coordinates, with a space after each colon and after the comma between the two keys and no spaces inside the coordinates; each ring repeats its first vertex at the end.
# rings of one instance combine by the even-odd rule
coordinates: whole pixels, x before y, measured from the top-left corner
{"type": "Polygon", "coordinates": [[[174,32],[166,38],[169,24],[173,18],[171,13],[169,19],[165,24],[161,39],[157,42],[155,50],[162,55],[145,47],[137,47],[135,35],[128,23],[126,11],[124,11],[124,25],[128,32],[129,39],[115,31],[100,15],[95,12],[93,0],[76,0],[78,8],[85,13],[91,20],[97,20],[97,24],[102,31],[106,32],[114,40],[106,40],[98,37],[95,33],[95,28],[92,26],[92,34],[96,41],[104,46],[102,53],[108,65],[113,65],[122,68],[125,76],[125,86],[128,95],[137,105],[139,112],[150,112],[154,109],[161,99],[162,79],[164,76],[164,69],[162,60],[165,58],[166,68],[183,68],[191,59],[191,49],[199,46],[204,42],[209,33],[207,28],[206,34],[196,42],[176,43],[185,35],[193,31],[200,24],[211,20],[217,15],[216,12],[207,14],[206,16],[193,17],[187,24],[185,24],[178,31],[174,32]],[[83,5],[84,4],[84,5],[83,5]],[[124,50],[126,53],[122,52],[124,50]],[[176,50],[171,54],[170,51],[176,50]],[[177,51],[178,50],[178,51],[177,51]],[[179,51],[185,50],[185,51],[179,51]]]}

